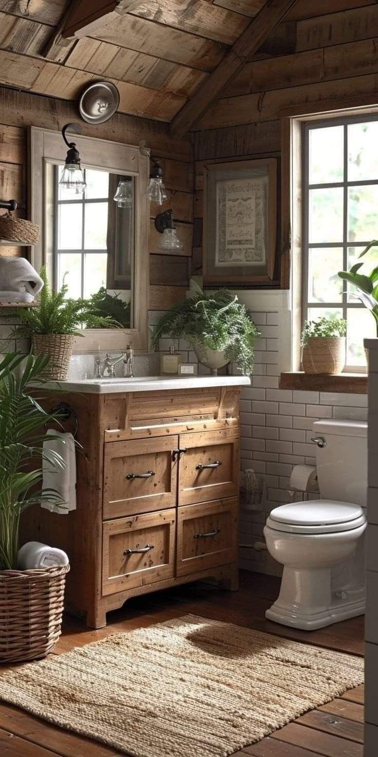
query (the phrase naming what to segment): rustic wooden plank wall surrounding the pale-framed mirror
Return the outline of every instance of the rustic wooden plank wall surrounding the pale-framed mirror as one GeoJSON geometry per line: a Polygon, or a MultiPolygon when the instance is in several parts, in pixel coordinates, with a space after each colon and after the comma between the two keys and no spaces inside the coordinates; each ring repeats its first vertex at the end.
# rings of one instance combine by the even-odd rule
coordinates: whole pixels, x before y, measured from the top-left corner
{"type": "MultiPolygon", "coordinates": [[[[78,120],[73,102],[0,87],[0,197],[15,198],[26,206],[28,126],[61,129],[64,123],[78,120]]],[[[170,137],[166,123],[124,114],[116,114],[101,126],[82,122],[82,133],[129,145],[138,145],[145,139],[153,155],[161,159],[169,199],[163,208],[153,204],[150,207],[150,308],[166,309],[184,296],[191,269],[194,200],[191,139],[170,137]],[[173,208],[184,243],[178,255],[156,254],[158,234],[153,218],[166,207],[173,208]]],[[[3,255],[22,254],[20,248],[0,250],[3,255]]]]}

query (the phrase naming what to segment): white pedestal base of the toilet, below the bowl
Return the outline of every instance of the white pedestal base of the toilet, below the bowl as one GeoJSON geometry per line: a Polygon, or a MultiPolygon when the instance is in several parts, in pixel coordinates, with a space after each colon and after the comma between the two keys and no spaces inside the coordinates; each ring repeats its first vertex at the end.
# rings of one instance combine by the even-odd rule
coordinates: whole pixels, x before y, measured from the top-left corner
{"type": "Polygon", "coordinates": [[[265,618],[302,631],[315,631],[364,615],[365,603],[361,584],[349,584],[345,590],[331,588],[330,568],[297,571],[285,566],[280,595],[265,612],[265,618]]]}

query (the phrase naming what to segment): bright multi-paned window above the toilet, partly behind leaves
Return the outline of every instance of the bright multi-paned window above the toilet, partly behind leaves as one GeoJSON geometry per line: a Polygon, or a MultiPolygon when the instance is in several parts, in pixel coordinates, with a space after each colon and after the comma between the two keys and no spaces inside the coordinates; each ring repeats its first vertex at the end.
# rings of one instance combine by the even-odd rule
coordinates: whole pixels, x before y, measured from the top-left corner
{"type": "Polygon", "coordinates": [[[376,336],[374,319],[337,272],[378,235],[378,120],[305,123],[303,145],[304,317],[345,318],[345,368],[364,370],[364,338],[376,336]]]}

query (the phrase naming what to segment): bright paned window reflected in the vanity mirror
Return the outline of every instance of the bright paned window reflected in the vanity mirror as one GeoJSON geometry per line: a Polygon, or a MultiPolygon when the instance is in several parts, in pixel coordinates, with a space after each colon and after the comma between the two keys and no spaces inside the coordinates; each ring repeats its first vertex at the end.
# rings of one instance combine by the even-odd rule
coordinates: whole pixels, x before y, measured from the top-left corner
{"type": "Polygon", "coordinates": [[[107,286],[109,174],[85,169],[86,188],[76,195],[61,188],[63,166],[55,167],[54,286],[67,297],[89,298],[107,286]]]}

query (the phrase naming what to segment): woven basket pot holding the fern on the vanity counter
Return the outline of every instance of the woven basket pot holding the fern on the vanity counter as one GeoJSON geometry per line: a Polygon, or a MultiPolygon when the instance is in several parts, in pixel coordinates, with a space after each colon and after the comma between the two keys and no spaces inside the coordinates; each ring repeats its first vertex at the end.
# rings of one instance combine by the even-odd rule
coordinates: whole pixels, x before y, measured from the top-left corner
{"type": "Polygon", "coordinates": [[[70,366],[75,337],[72,334],[34,334],[33,354],[48,355],[50,362],[42,371],[42,378],[64,381],[70,366]]]}

